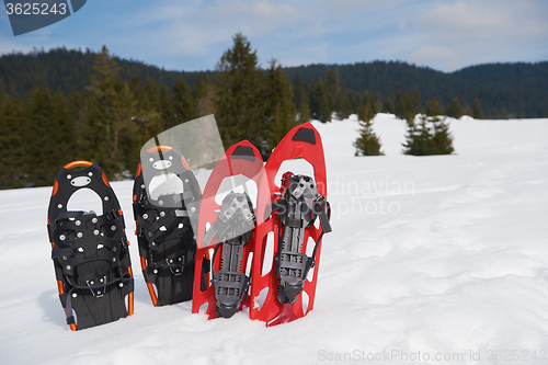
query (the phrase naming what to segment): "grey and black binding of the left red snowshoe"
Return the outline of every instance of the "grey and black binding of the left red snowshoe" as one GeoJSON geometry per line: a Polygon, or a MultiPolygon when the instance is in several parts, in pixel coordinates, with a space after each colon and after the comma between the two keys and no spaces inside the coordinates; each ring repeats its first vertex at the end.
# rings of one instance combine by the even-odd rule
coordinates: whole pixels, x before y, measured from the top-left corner
{"type": "Polygon", "coordinates": [[[220,270],[213,275],[217,316],[232,317],[248,293],[249,277],[240,270],[243,265],[243,246],[249,242],[255,227],[253,205],[248,194],[230,192],[222,201],[220,213],[203,242],[209,244],[215,236],[221,250],[220,270]]]}

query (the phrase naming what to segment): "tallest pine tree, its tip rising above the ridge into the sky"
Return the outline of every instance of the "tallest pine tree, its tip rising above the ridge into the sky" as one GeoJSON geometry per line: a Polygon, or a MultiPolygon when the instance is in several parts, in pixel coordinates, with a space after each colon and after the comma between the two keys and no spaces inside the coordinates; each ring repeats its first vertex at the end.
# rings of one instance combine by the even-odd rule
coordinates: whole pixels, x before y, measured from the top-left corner
{"type": "Polygon", "coordinates": [[[248,139],[265,148],[265,77],[259,68],[256,50],[241,33],[233,37],[217,64],[215,118],[225,148],[248,139]]]}

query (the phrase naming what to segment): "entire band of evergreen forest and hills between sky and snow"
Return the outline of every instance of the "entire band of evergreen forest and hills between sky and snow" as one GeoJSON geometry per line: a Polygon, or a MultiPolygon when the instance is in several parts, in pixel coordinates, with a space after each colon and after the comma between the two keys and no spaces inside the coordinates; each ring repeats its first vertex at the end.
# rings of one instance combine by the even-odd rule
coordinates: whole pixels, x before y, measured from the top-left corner
{"type": "MultiPolygon", "coordinates": [[[[398,61],[283,67],[260,64],[242,34],[215,70],[184,72],[115,57],[103,46],[0,57],[0,189],[52,185],[83,159],[132,179],[156,134],[215,114],[225,147],[253,142],[266,159],[311,118],[418,113],[477,118],[548,116],[548,62],[493,64],[452,73],[398,61]]],[[[418,134],[416,130],[412,133],[418,134]]],[[[364,139],[365,140],[365,139],[364,139]]],[[[372,155],[381,155],[374,146],[372,155]]],[[[366,153],[366,155],[369,155],[366,153]]]]}

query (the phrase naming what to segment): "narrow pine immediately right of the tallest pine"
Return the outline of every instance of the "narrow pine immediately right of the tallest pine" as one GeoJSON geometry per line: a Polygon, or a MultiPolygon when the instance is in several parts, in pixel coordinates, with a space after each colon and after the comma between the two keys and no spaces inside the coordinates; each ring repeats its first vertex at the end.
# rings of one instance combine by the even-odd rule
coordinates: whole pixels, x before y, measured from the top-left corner
{"type": "Polygon", "coordinates": [[[271,60],[266,72],[266,121],[269,150],[263,152],[267,158],[270,151],[295,126],[295,105],[293,104],[293,87],[285,76],[282,66],[271,60]]]}

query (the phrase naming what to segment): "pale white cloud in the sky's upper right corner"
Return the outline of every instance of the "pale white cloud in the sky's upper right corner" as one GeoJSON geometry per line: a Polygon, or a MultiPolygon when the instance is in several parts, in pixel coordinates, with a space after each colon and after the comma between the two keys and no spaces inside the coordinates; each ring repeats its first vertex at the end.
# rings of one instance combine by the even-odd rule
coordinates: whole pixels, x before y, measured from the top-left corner
{"type": "Polygon", "coordinates": [[[546,19],[548,7],[538,1],[438,3],[414,22],[422,44],[409,60],[454,70],[479,62],[527,59],[529,56],[522,53],[524,45],[547,45],[546,19]]]}

